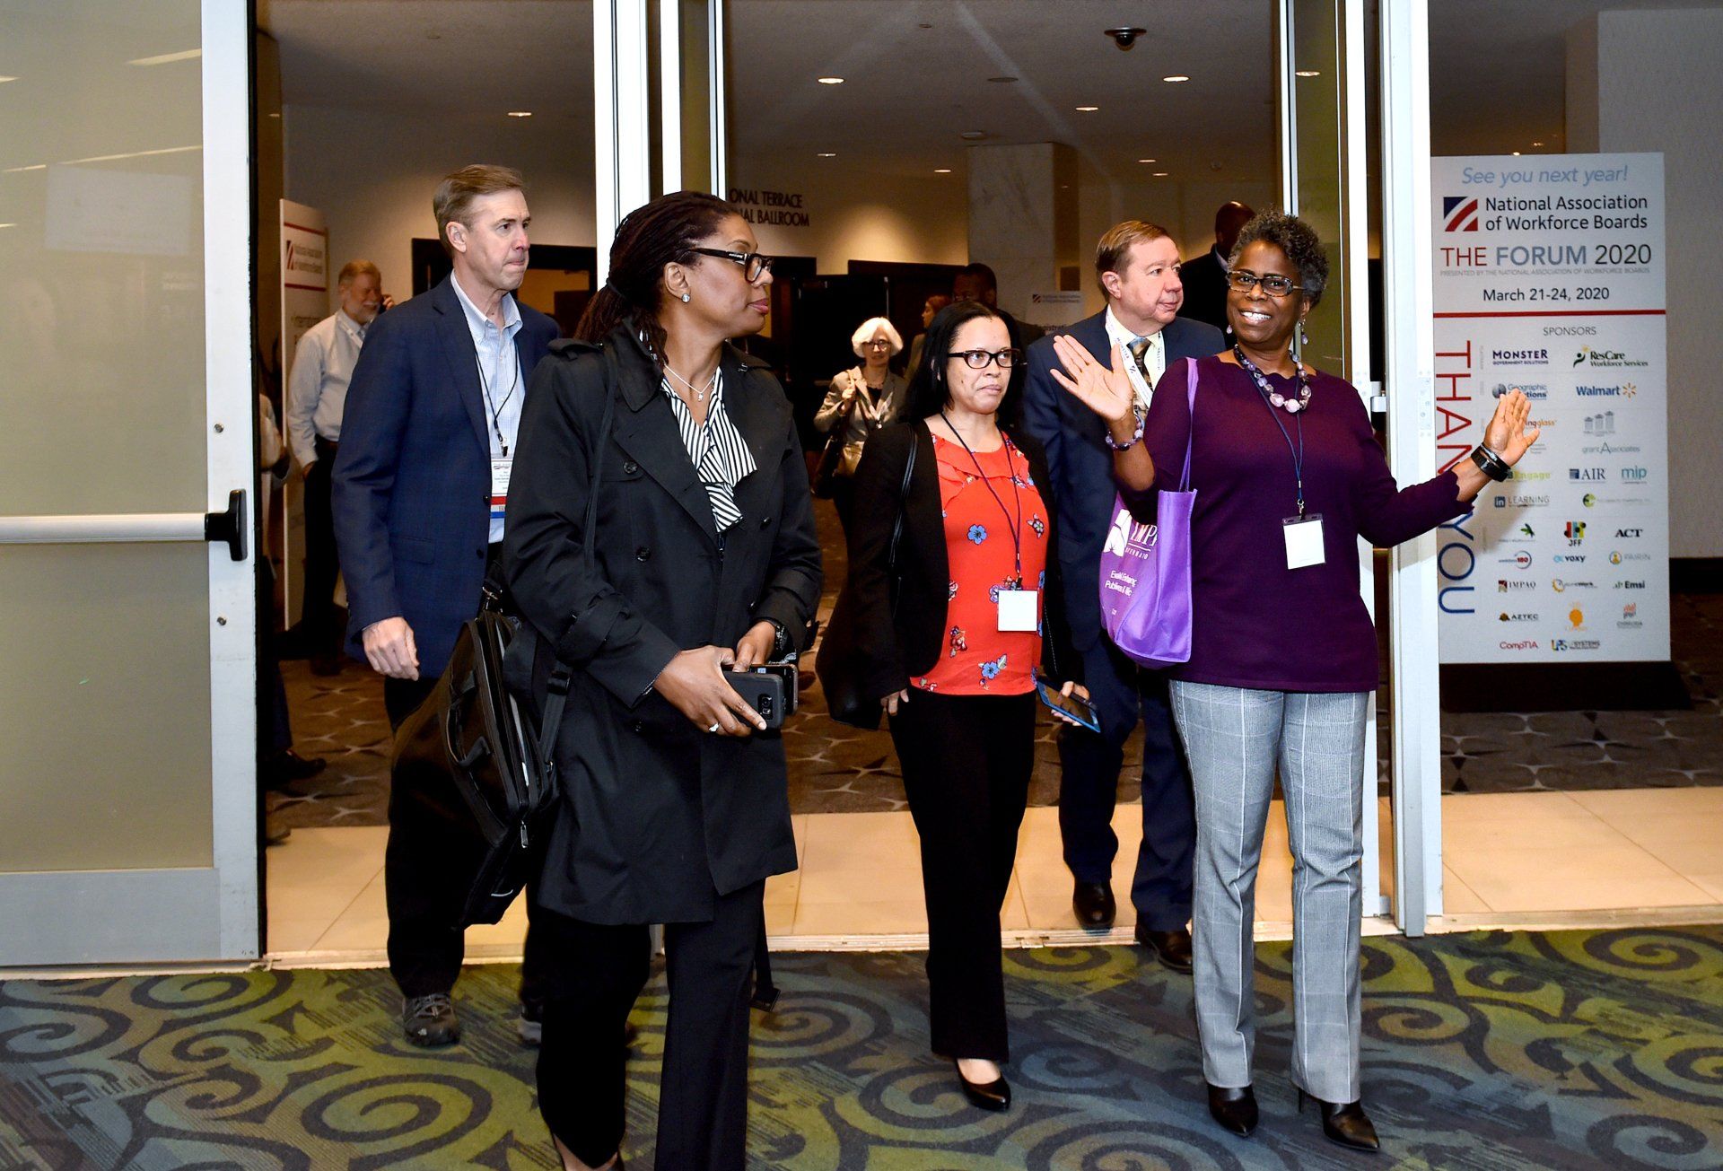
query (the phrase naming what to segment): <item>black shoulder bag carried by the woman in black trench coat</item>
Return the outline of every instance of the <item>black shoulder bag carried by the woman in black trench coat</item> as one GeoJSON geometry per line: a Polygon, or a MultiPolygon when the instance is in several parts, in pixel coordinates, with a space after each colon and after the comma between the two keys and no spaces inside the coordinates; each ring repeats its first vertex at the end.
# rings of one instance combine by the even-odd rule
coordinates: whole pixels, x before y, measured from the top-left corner
{"type": "MultiPolygon", "coordinates": [[[[588,560],[598,520],[598,460],[615,413],[615,355],[608,350],[605,374],[582,534],[588,560]]],[[[445,858],[445,864],[463,868],[467,899],[458,926],[503,918],[538,863],[536,842],[557,804],[557,732],[574,673],[557,663],[543,718],[534,722],[507,685],[503,666],[510,647],[520,656],[534,641],[531,627],[505,613],[503,589],[488,579],[481,610],[462,625],[443,677],[395,734],[395,796],[467,844],[445,858]]]]}

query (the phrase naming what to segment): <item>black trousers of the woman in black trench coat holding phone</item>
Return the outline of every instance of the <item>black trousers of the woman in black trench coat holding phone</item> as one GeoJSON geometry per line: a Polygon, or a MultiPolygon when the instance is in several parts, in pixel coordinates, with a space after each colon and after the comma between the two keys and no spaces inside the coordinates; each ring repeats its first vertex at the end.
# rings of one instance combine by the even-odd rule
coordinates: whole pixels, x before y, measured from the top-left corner
{"type": "MultiPolygon", "coordinates": [[[[748,1157],[748,1001],[760,937],[756,882],[718,895],[710,923],[667,923],[670,1013],[658,1092],[660,1168],[743,1171],[748,1157]]],[[[538,908],[544,1123],[596,1168],[622,1145],[624,1028],[651,966],[644,923],[584,923],[538,908]]]]}

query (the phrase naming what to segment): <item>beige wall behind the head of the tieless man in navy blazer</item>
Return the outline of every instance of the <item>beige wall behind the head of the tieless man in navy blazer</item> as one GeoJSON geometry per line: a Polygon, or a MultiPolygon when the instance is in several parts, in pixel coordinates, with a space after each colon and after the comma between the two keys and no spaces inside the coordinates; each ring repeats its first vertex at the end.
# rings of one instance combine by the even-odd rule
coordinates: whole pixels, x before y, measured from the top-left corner
{"type": "Polygon", "coordinates": [[[329,219],[331,272],[353,258],[372,260],[383,269],[383,288],[398,300],[412,293],[412,239],[436,238],[436,184],[472,162],[526,174],[534,243],[594,241],[591,122],[410,117],[322,105],[289,105],[283,122],[286,198],[329,219]]]}

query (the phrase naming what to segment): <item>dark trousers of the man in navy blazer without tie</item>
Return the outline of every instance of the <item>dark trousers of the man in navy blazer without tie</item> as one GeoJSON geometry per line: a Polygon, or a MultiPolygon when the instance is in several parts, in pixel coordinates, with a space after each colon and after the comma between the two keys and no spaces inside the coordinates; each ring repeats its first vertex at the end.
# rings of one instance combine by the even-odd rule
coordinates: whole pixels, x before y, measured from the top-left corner
{"type": "MultiPolygon", "coordinates": [[[[389,730],[401,727],[436,678],[384,678],[383,708],[389,730]]],[[[401,995],[448,992],[467,956],[460,908],[467,901],[467,877],[477,870],[479,852],[467,839],[458,839],[436,820],[420,813],[412,801],[389,789],[389,844],[383,852],[383,894],[389,913],[389,975],[401,995]]],[[[543,995],[541,973],[546,956],[534,939],[532,901],[527,899],[527,939],[520,963],[520,1004],[536,1014],[543,995]]]]}

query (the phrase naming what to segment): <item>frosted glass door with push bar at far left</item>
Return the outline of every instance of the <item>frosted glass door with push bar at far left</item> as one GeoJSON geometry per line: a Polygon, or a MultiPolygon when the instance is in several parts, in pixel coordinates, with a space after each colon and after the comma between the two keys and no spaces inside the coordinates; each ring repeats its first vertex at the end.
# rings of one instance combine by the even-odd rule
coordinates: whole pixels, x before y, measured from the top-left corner
{"type": "Polygon", "coordinates": [[[0,966],[258,954],[248,21],[0,12],[0,966]]]}

